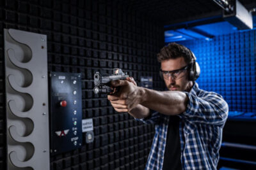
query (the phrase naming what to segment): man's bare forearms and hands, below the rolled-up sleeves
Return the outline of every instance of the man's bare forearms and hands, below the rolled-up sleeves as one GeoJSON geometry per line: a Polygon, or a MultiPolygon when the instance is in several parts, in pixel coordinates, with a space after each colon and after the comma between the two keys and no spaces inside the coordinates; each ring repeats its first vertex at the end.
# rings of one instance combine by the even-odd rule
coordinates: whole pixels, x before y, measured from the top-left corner
{"type": "Polygon", "coordinates": [[[165,115],[178,115],[186,110],[188,97],[183,92],[159,92],[125,80],[113,81],[112,85],[122,86],[117,95],[108,96],[112,106],[118,112],[128,111],[135,118],[148,117],[148,108],[165,115]]]}

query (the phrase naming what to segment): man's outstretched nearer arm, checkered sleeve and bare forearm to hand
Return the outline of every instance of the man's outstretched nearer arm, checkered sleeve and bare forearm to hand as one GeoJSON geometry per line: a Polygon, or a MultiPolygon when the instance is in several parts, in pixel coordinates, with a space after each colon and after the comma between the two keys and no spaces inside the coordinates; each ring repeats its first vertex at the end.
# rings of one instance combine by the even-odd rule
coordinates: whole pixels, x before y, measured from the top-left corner
{"type": "MultiPolygon", "coordinates": [[[[159,92],[136,87],[126,80],[115,81],[113,86],[115,85],[122,86],[121,91],[116,96],[109,96],[109,100],[115,97],[116,102],[120,102],[119,106],[124,107],[124,111],[128,111],[135,118],[148,117],[149,108],[164,115],[182,113],[180,116],[191,122],[223,125],[227,120],[228,104],[214,92],[204,92],[198,97],[188,92],[159,92]]],[[[116,107],[112,101],[111,104],[116,107]]]]}

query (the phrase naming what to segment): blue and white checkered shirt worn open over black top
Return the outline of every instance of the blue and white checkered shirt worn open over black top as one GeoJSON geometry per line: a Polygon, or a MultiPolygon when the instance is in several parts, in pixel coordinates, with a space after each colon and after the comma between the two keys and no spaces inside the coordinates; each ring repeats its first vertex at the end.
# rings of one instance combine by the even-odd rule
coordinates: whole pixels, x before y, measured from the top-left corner
{"type": "MultiPolygon", "coordinates": [[[[187,110],[179,114],[182,169],[216,169],[228,104],[219,94],[200,90],[197,83],[185,93],[189,98],[187,110]]],[[[163,168],[169,117],[155,112],[150,118],[137,119],[156,125],[145,169],[163,168]]]]}

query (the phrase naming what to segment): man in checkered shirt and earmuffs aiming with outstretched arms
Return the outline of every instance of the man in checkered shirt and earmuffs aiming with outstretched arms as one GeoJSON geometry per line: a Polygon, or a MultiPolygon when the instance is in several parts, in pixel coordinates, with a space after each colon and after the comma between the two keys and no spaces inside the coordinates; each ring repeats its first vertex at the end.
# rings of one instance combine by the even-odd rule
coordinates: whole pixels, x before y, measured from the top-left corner
{"type": "Polygon", "coordinates": [[[170,43],[157,60],[168,91],[137,87],[127,78],[111,82],[121,89],[109,101],[116,111],[156,125],[146,169],[216,169],[227,103],[219,94],[198,88],[200,69],[185,46],[170,43]]]}

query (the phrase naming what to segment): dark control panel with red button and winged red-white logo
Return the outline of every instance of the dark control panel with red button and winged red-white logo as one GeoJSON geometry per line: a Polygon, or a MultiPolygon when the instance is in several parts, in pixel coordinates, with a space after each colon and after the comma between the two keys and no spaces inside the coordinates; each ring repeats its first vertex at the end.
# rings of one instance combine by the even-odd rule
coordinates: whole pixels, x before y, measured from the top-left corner
{"type": "Polygon", "coordinates": [[[51,154],[82,145],[80,73],[51,72],[51,154]]]}

